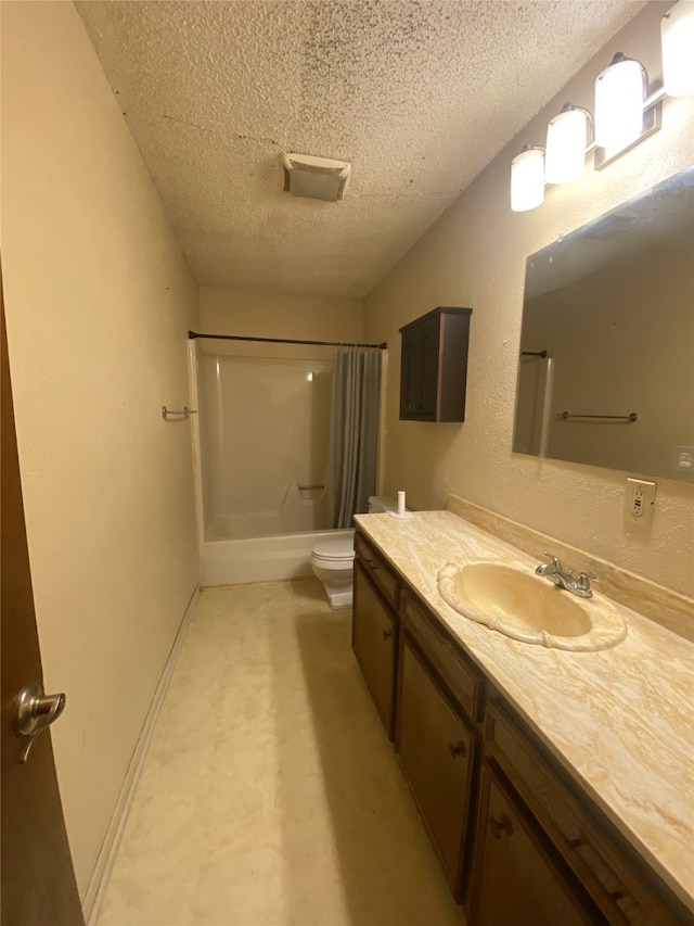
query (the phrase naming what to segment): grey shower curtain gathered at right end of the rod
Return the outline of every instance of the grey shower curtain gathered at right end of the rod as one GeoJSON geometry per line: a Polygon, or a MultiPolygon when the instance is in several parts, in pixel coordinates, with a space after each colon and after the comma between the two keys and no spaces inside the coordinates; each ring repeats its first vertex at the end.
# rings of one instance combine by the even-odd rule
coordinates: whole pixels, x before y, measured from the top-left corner
{"type": "Polygon", "coordinates": [[[376,491],[381,351],[339,351],[333,363],[329,511],[351,528],[376,491]]]}

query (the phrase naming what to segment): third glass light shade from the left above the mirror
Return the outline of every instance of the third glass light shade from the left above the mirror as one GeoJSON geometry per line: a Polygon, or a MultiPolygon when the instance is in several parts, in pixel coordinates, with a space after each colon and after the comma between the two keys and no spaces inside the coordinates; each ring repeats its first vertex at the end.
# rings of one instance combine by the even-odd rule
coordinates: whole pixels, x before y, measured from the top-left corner
{"type": "Polygon", "coordinates": [[[595,80],[595,142],[620,151],[643,129],[645,71],[638,62],[616,54],[595,80]]]}

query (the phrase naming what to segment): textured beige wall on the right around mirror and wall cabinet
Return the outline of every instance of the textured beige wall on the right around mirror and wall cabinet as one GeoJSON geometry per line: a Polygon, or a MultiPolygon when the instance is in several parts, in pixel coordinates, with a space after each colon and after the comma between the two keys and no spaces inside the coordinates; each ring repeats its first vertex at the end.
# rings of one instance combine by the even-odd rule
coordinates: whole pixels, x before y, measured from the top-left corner
{"type": "MultiPolygon", "coordinates": [[[[543,144],[566,100],[593,107],[593,80],[622,50],[660,77],[651,4],[595,56],[461,195],[367,299],[365,335],[394,345],[385,423],[384,490],[413,507],[452,492],[627,569],[694,594],[694,486],[658,479],[650,533],[624,527],[626,473],[513,455],[514,403],[528,254],[694,163],[694,99],[665,101],[663,128],[601,172],[550,187],[540,208],[512,213],[509,177],[523,143],[543,144]],[[398,420],[398,328],[437,305],[472,306],[464,424],[398,420]]],[[[461,152],[461,156],[464,152],[461,152]]],[[[573,563],[580,568],[580,563],[573,563]]]]}

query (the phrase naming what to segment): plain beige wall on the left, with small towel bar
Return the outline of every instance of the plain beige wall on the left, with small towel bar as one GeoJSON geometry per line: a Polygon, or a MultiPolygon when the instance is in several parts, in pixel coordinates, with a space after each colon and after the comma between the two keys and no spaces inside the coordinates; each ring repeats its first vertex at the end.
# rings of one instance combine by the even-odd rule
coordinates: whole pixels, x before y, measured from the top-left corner
{"type": "MultiPolygon", "coordinates": [[[[72,3],[2,3],[2,262],[46,685],[82,896],[197,582],[197,290],[72,3]]],[[[28,681],[28,680],[27,680],[28,681]]]]}

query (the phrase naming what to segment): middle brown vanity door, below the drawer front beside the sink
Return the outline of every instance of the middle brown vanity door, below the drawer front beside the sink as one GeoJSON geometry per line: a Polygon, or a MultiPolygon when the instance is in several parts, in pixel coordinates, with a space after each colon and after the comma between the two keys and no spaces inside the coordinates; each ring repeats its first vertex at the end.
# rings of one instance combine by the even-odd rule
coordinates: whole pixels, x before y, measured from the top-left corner
{"type": "Polygon", "coordinates": [[[459,897],[475,741],[404,635],[399,672],[396,748],[459,897]]]}

